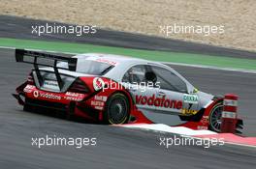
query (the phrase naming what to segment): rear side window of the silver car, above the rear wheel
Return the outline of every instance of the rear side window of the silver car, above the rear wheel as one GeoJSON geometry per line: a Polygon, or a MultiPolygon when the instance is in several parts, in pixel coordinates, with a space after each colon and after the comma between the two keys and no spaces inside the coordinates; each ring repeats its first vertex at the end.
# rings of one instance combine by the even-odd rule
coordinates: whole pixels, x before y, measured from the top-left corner
{"type": "Polygon", "coordinates": [[[137,83],[144,82],[145,66],[137,65],[127,70],[123,76],[123,82],[137,83]]]}

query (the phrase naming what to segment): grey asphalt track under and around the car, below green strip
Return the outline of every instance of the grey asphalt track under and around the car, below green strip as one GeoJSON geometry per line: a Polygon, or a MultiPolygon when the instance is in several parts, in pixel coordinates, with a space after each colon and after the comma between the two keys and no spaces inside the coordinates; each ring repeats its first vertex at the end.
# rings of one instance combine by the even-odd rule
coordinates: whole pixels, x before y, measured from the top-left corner
{"type": "MultiPolygon", "coordinates": [[[[2,25],[0,26],[2,30],[2,25]]],[[[6,30],[8,32],[8,30],[6,30]]],[[[1,35],[1,34],[0,34],[1,35]]],[[[20,34],[22,35],[22,34],[20,34]]],[[[18,37],[17,37],[18,38],[18,37]]],[[[14,50],[0,49],[0,168],[253,168],[255,149],[238,146],[159,146],[149,131],[67,121],[61,116],[23,112],[11,94],[23,82],[31,66],[17,64],[14,50]],[[43,147],[31,138],[96,137],[97,146],[43,147]]],[[[240,95],[240,115],[245,135],[255,134],[255,82],[252,73],[173,66],[200,90],[212,94],[240,95]]]]}

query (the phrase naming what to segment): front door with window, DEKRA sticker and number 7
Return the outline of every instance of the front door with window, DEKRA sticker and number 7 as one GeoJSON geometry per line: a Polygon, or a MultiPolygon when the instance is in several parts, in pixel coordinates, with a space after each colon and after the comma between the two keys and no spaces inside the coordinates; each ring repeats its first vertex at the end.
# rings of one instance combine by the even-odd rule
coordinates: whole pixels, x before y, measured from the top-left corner
{"type": "Polygon", "coordinates": [[[178,115],[190,116],[198,112],[198,97],[188,94],[187,84],[179,74],[155,65],[151,65],[150,69],[158,82],[156,98],[161,100],[155,104],[157,123],[179,125],[181,122],[178,115]]]}

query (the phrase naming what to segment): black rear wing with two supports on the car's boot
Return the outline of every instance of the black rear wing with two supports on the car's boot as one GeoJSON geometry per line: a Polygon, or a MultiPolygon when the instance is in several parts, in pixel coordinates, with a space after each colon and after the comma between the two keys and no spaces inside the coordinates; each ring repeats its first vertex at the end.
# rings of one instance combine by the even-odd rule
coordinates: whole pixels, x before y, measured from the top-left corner
{"type": "Polygon", "coordinates": [[[57,82],[58,82],[58,86],[61,89],[63,87],[63,82],[62,82],[62,79],[61,79],[58,69],[76,71],[78,59],[58,56],[55,54],[31,51],[31,50],[16,49],[16,62],[33,64],[36,74],[38,76],[40,85],[42,85],[43,78],[41,76],[38,66],[53,68],[54,73],[56,75],[57,82]],[[28,58],[25,59],[25,57],[28,57],[28,58]],[[53,64],[40,63],[40,59],[53,61],[53,64]],[[57,63],[60,61],[68,63],[68,68],[57,67],[57,63]]]}

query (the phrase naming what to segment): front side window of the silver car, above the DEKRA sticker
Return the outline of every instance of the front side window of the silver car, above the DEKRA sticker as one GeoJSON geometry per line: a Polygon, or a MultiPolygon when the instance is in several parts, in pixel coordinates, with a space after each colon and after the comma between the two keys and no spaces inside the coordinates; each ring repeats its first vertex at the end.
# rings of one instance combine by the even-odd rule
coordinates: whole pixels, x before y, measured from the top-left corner
{"type": "Polygon", "coordinates": [[[156,66],[151,66],[151,69],[156,74],[157,82],[159,83],[161,89],[181,93],[187,92],[186,83],[171,70],[156,66]]]}

